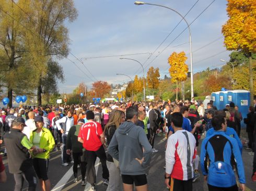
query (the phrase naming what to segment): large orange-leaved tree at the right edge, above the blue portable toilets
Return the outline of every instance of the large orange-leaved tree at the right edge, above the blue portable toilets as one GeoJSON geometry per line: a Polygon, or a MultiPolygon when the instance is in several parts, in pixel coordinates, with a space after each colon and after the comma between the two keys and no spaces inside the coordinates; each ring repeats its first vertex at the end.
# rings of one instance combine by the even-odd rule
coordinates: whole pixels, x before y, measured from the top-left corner
{"type": "Polygon", "coordinates": [[[238,50],[249,57],[251,104],[253,100],[252,53],[256,53],[256,1],[227,0],[228,21],[222,28],[227,50],[238,50]]]}

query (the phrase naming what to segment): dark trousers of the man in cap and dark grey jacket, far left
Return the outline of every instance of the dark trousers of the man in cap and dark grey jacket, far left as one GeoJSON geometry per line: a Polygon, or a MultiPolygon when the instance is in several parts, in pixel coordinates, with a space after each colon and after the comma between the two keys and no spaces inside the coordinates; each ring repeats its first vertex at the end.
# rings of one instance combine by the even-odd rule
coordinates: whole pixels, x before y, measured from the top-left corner
{"type": "Polygon", "coordinates": [[[20,191],[24,184],[24,179],[28,182],[28,190],[34,191],[37,187],[37,177],[36,173],[34,172],[34,169],[31,165],[25,172],[21,173],[15,173],[14,174],[15,179],[15,191],[20,191]]]}

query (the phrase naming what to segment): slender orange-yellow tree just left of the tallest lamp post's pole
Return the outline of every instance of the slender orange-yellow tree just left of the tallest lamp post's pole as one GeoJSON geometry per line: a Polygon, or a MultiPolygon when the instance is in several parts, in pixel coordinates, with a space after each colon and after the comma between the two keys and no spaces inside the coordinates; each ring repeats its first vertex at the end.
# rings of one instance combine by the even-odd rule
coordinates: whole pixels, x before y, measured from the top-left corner
{"type": "Polygon", "coordinates": [[[184,52],[173,52],[168,58],[171,82],[176,82],[176,99],[178,99],[178,82],[183,82],[188,78],[189,67],[185,64],[187,59],[184,52]]]}

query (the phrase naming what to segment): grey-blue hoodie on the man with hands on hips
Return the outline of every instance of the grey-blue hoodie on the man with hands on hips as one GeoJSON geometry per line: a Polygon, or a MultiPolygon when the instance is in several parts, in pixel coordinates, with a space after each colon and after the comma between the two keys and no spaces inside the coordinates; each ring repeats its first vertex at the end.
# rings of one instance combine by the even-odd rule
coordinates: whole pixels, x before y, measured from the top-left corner
{"type": "Polygon", "coordinates": [[[146,173],[146,167],[151,159],[151,149],[144,130],[131,121],[125,121],[115,131],[108,153],[119,161],[121,174],[139,175],[146,173]],[[135,159],[143,157],[142,164],[135,159]]]}

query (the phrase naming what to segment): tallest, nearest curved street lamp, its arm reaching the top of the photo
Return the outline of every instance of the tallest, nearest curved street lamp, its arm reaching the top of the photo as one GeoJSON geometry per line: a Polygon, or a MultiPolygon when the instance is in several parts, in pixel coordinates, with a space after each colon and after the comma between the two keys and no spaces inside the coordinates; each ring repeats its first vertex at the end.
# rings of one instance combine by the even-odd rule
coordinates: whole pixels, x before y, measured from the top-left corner
{"type": "Polygon", "coordinates": [[[144,2],[134,2],[135,5],[155,5],[155,6],[159,6],[159,7],[165,7],[167,9],[170,9],[174,12],[176,12],[179,16],[182,17],[182,19],[186,22],[186,24],[188,25],[189,28],[189,44],[190,44],[190,68],[191,68],[191,99],[192,97],[194,97],[194,87],[193,87],[193,63],[192,63],[192,45],[191,45],[191,32],[190,32],[190,27],[189,27],[189,23],[187,22],[187,20],[177,11],[174,10],[170,7],[166,7],[164,5],[157,5],[157,4],[151,4],[151,3],[144,3],[144,2]]]}

